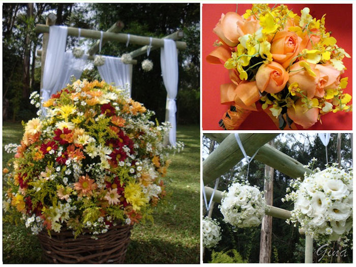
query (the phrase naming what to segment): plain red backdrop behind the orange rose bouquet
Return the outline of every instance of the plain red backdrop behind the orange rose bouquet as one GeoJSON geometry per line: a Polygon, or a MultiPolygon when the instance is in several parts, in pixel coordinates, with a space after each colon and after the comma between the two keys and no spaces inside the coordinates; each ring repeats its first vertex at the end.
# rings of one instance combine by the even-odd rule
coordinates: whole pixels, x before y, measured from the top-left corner
{"type": "MultiPolygon", "coordinates": [[[[337,45],[352,56],[352,5],[350,4],[286,4],[294,13],[300,14],[304,7],[310,9],[310,14],[320,19],[325,16],[325,28],[332,32],[337,45]]],[[[270,4],[273,7],[274,4],[270,4]]],[[[251,4],[239,4],[238,14],[243,15],[251,4]]],[[[202,128],[203,130],[222,130],[218,122],[221,120],[228,105],[220,104],[220,84],[229,83],[227,69],[223,65],[213,65],[206,62],[206,56],[214,50],[214,42],[218,39],[213,28],[222,13],[235,12],[235,4],[203,4],[202,6],[202,128]]],[[[352,58],[344,58],[347,70],[341,77],[348,77],[344,93],[352,95],[352,58]]],[[[352,112],[328,113],[321,116],[308,130],[352,130],[352,112]]],[[[303,127],[297,126],[299,130],[303,127]]],[[[252,112],[239,130],[279,130],[271,118],[263,111],[252,112]]]]}

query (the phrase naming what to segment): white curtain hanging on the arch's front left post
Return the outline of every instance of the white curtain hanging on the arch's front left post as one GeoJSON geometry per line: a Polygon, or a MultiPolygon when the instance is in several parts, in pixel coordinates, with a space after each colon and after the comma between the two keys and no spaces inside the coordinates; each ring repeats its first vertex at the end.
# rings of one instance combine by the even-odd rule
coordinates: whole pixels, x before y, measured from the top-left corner
{"type": "Polygon", "coordinates": [[[60,79],[65,61],[67,42],[66,26],[50,26],[46,62],[43,71],[43,102],[56,92],[56,84],[60,79]]]}

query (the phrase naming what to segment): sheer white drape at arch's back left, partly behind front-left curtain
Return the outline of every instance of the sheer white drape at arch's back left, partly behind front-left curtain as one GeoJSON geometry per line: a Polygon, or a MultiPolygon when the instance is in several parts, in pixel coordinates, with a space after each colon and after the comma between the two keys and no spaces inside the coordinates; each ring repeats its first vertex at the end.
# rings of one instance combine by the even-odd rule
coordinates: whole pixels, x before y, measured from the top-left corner
{"type": "Polygon", "coordinates": [[[64,53],[63,70],[58,78],[55,86],[53,87],[53,93],[62,90],[68,83],[71,83],[71,78],[74,76],[79,79],[84,68],[87,66],[87,55],[83,55],[81,58],[77,58],[72,52],[64,53]]]}

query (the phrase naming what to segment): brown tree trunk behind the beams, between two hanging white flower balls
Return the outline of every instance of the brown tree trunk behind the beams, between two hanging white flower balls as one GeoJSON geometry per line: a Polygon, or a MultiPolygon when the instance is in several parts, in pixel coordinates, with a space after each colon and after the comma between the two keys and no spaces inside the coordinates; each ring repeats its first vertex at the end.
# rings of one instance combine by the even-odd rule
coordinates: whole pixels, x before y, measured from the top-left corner
{"type": "MultiPolygon", "coordinates": [[[[269,142],[274,146],[274,141],[269,142]]],[[[273,205],[273,178],[274,169],[264,166],[264,198],[268,205],[273,205]]],[[[261,239],[259,249],[259,263],[271,263],[272,254],[272,216],[264,215],[261,225],[261,239]]]]}

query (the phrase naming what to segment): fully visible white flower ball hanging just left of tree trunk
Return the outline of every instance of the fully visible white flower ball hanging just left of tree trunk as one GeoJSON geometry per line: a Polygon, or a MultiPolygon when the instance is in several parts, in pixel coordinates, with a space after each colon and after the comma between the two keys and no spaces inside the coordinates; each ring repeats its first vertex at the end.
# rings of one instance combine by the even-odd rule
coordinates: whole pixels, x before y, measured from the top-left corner
{"type": "Polygon", "coordinates": [[[252,227],[261,223],[266,202],[256,186],[233,183],[223,192],[220,211],[224,221],[236,227],[252,227]]]}

